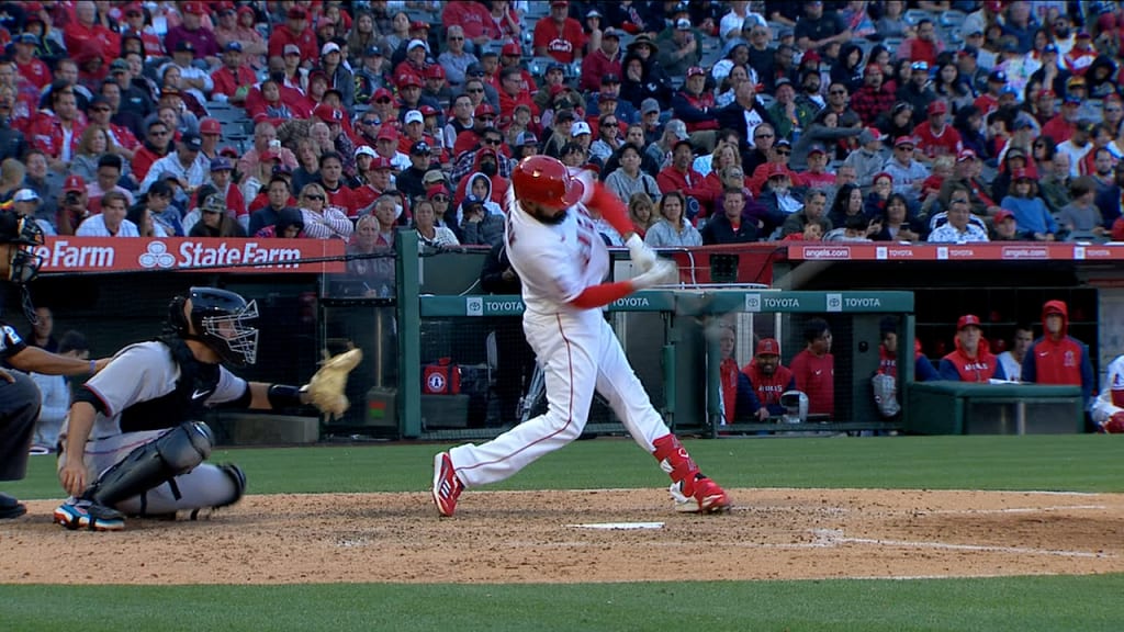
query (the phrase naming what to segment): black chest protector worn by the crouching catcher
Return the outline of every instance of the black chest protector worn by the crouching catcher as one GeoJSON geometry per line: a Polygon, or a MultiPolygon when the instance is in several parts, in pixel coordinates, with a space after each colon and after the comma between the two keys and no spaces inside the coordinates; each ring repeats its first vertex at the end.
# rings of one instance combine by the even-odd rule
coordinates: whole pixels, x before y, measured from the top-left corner
{"type": "Polygon", "coordinates": [[[121,410],[121,432],[175,427],[185,421],[200,419],[203,403],[215,392],[219,365],[196,360],[187,343],[178,337],[161,337],[180,367],[175,390],[147,401],[137,401],[121,410]]]}

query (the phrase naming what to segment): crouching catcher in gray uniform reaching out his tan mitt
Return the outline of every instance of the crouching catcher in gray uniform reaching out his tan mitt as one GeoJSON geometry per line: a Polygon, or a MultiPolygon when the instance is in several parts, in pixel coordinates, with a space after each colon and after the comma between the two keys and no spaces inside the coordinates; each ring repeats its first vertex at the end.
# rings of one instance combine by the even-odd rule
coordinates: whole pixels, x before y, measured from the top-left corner
{"type": "Polygon", "coordinates": [[[119,531],[125,515],[196,518],[237,503],[243,471],[203,462],[214,443],[197,421],[205,406],[346,409],[341,374],[355,367],[359,350],[326,363],[305,388],[248,382],[221,365],[254,363],[257,329],[247,322],[256,317],[254,301],[191,288],[172,300],[163,336],[120,350],[83,386],[60,435],[58,480],[71,498],[55,509],[56,523],[119,531]]]}

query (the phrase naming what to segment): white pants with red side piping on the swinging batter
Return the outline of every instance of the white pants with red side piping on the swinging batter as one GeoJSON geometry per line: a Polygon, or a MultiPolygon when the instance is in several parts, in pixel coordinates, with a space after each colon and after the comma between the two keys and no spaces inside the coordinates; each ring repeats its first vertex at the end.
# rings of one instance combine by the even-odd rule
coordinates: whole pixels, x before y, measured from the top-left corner
{"type": "Polygon", "coordinates": [[[599,309],[549,316],[528,312],[523,329],[543,364],[546,413],[482,445],[450,450],[453,468],[465,486],[504,480],[578,439],[595,388],[645,451],[651,453],[653,441],[670,432],[599,309]]]}

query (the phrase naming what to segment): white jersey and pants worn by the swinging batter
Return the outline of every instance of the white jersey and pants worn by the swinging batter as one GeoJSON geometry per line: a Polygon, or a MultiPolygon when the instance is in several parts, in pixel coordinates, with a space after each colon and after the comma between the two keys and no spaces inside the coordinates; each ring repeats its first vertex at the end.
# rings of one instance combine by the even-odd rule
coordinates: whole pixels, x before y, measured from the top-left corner
{"type": "MultiPolygon", "coordinates": [[[[588,192],[592,186],[587,186],[588,192]]],[[[448,451],[468,487],[504,480],[540,457],[581,435],[593,389],[608,401],[646,452],[670,431],[652,407],[601,309],[579,309],[569,301],[599,285],[609,271],[609,253],[584,206],[578,204],[561,224],[544,224],[514,199],[507,200],[507,252],[523,281],[523,331],[546,380],[547,409],[482,445],[448,451]]]]}

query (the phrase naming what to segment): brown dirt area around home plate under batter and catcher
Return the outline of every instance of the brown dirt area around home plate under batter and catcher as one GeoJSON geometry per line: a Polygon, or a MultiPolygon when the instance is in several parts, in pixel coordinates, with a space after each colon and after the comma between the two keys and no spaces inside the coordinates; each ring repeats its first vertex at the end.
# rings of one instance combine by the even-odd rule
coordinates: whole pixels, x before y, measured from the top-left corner
{"type": "MultiPolygon", "coordinates": [[[[250,496],[207,522],[0,523],[6,584],[570,583],[1124,571],[1124,495],[736,489],[727,515],[659,490],[250,496]],[[606,530],[578,525],[663,523],[606,530]]],[[[637,525],[632,525],[637,526],[637,525]]]]}

